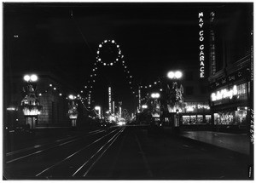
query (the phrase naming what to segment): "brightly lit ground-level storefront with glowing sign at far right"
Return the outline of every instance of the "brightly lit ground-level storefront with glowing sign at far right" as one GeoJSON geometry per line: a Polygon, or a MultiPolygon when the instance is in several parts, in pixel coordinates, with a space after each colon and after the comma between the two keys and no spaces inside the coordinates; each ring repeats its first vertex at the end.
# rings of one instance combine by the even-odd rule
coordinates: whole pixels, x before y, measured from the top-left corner
{"type": "Polygon", "coordinates": [[[247,132],[249,125],[250,82],[238,71],[222,80],[211,93],[214,129],[218,131],[247,132]],[[239,77],[240,76],[240,77],[239,77]]]}

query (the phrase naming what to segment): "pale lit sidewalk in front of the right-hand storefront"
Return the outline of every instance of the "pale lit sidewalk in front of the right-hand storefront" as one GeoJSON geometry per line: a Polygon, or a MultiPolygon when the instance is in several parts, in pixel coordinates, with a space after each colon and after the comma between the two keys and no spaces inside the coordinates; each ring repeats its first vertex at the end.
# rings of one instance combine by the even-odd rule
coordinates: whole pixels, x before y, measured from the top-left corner
{"type": "Polygon", "coordinates": [[[183,137],[220,146],[242,154],[250,154],[250,138],[247,134],[228,134],[212,131],[183,131],[183,137]]]}

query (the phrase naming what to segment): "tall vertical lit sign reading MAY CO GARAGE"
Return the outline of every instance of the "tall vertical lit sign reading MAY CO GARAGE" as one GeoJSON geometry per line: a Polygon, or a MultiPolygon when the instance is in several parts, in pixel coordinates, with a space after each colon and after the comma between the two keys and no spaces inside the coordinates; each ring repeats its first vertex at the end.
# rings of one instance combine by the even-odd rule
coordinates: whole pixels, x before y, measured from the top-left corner
{"type": "Polygon", "coordinates": [[[200,78],[204,78],[205,77],[205,53],[204,53],[204,49],[205,49],[205,45],[204,45],[204,20],[203,20],[204,14],[203,12],[200,12],[198,14],[198,25],[200,27],[199,29],[199,41],[200,41],[200,46],[199,46],[199,62],[200,62],[200,66],[199,66],[199,73],[200,73],[200,78]]]}

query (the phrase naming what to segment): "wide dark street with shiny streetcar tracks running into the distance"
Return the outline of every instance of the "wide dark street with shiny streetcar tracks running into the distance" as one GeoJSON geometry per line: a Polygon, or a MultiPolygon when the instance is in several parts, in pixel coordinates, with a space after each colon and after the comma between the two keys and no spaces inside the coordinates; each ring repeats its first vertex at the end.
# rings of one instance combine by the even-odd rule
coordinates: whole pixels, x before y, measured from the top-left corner
{"type": "Polygon", "coordinates": [[[249,158],[163,131],[122,126],[23,142],[7,180],[249,180],[249,158]]]}

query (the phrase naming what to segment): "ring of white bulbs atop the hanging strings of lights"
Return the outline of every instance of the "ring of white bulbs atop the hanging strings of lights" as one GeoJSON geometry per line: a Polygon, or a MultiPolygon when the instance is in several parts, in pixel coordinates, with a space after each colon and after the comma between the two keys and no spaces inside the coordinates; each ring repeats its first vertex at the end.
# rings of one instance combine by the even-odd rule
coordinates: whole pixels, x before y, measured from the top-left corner
{"type": "Polygon", "coordinates": [[[114,40],[104,40],[102,43],[99,44],[99,47],[96,53],[97,53],[96,60],[102,63],[103,66],[113,66],[124,57],[122,55],[122,51],[119,47],[119,44],[116,43],[114,40]],[[116,54],[114,55],[115,58],[113,58],[113,60],[110,61],[110,63],[108,63],[102,57],[102,54],[104,54],[104,52],[105,53],[108,52],[108,54],[116,54]]]}

